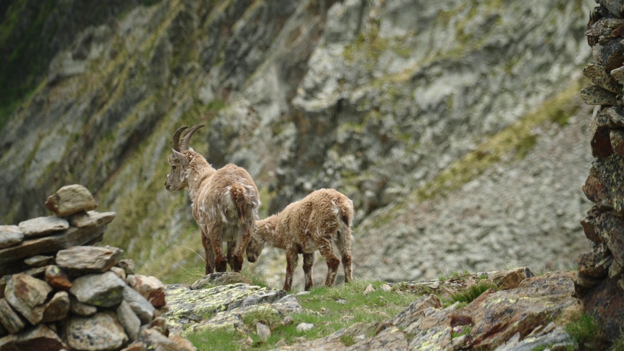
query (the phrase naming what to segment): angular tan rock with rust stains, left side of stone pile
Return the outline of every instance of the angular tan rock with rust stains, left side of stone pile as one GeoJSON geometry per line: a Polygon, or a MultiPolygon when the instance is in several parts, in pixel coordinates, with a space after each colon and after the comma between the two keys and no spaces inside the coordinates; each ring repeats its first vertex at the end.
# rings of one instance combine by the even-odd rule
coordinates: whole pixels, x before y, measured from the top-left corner
{"type": "Polygon", "coordinates": [[[14,274],[4,288],[7,302],[35,325],[43,319],[47,294],[52,287],[43,280],[26,274],[14,274]]]}

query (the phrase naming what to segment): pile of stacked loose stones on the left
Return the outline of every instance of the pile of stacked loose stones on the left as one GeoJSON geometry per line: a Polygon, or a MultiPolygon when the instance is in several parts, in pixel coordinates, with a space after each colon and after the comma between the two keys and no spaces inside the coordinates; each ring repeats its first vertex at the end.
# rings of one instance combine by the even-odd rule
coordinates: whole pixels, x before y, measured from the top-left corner
{"type": "Polygon", "coordinates": [[[46,207],[56,216],[0,225],[0,350],[196,350],[169,335],[162,282],[93,246],[115,212],[82,185],[46,207]]]}

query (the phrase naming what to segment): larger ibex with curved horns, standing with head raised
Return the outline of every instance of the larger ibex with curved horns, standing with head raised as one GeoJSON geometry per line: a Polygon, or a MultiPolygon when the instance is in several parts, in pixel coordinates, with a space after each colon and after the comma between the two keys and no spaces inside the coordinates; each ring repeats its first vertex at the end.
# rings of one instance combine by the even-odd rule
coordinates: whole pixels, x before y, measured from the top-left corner
{"type": "Polygon", "coordinates": [[[240,272],[245,249],[256,228],[260,195],[245,169],[234,164],[214,169],[202,155],[188,147],[193,133],[201,127],[188,129],[182,140],[180,134],[187,127],[173,134],[171,172],[165,188],[175,191],[188,187],[193,217],[202,230],[206,274],[213,269],[225,272],[227,264],[234,272],[240,272]],[[223,241],[227,241],[227,257],[223,257],[223,241]]]}

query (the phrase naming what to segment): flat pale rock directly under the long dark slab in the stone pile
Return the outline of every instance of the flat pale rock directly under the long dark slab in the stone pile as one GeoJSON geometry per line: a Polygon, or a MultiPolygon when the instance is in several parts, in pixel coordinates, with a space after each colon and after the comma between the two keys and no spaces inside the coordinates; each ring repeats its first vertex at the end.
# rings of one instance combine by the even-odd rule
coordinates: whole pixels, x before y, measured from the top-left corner
{"type": "Polygon", "coordinates": [[[72,246],[56,254],[56,264],[84,272],[106,272],[113,267],[124,250],[117,247],[72,246]]]}

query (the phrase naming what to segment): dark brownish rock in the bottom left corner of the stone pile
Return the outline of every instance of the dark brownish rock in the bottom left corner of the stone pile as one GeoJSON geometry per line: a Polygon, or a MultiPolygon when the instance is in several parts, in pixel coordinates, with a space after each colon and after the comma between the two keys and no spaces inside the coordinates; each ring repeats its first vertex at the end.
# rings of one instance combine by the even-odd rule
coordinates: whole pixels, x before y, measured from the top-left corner
{"type": "Polygon", "coordinates": [[[0,350],[63,350],[67,345],[45,324],[0,339],[0,350]]]}

